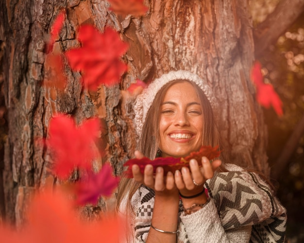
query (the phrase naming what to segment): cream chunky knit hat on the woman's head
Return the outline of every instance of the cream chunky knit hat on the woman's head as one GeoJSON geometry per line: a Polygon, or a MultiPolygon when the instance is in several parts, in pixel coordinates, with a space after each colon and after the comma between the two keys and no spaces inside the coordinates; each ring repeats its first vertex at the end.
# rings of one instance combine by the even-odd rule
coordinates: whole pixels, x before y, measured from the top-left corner
{"type": "Polygon", "coordinates": [[[217,117],[218,112],[218,101],[213,95],[212,89],[208,84],[201,79],[198,75],[185,71],[170,71],[167,74],[163,74],[160,78],[155,79],[144,91],[137,96],[134,110],[135,110],[135,128],[138,137],[141,135],[142,126],[145,122],[147,113],[152,105],[157,92],[167,83],[173,80],[189,80],[197,84],[202,90],[207,99],[209,100],[213,113],[217,117]]]}

